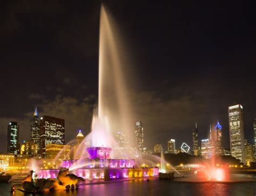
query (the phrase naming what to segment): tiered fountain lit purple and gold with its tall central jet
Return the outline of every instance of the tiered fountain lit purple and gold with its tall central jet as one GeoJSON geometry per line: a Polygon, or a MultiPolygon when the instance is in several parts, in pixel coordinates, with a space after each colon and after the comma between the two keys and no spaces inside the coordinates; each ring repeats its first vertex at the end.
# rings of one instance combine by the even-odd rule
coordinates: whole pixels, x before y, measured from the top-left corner
{"type": "MultiPolygon", "coordinates": [[[[124,131],[127,131],[129,107],[120,68],[122,63],[119,59],[117,36],[114,35],[111,18],[103,5],[100,11],[99,37],[98,112],[93,115],[91,132],[77,148],[77,159],[63,160],[59,167],[69,168],[69,171],[84,179],[158,177],[158,167],[136,167],[135,160],[129,154],[120,153],[115,148],[117,143],[110,131],[116,125],[114,116],[118,115],[118,121],[124,131]],[[109,100],[110,96],[113,100],[109,100]],[[90,146],[85,145],[87,140],[90,141],[90,146]]],[[[56,178],[58,173],[59,168],[41,170],[36,174],[38,178],[56,178]]]]}

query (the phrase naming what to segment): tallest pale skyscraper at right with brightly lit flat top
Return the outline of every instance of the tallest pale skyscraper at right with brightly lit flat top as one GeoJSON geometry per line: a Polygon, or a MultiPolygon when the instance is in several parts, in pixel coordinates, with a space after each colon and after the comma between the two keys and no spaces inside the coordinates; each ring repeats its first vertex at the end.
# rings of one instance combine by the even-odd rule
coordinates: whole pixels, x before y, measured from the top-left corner
{"type": "Polygon", "coordinates": [[[245,163],[244,120],[240,104],[228,107],[231,156],[245,163]]]}

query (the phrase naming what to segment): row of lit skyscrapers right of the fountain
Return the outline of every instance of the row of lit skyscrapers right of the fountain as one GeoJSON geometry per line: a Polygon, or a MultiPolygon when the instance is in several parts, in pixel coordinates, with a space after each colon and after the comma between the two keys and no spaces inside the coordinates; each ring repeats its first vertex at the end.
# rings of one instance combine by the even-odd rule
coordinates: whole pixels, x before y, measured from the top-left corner
{"type": "MultiPolygon", "coordinates": [[[[230,148],[224,148],[223,127],[217,121],[214,127],[210,125],[208,137],[199,142],[197,123],[192,130],[192,148],[183,143],[180,148],[176,149],[175,139],[167,141],[167,151],[165,153],[191,153],[194,156],[203,157],[205,159],[212,156],[231,155],[239,159],[242,163],[250,163],[256,160],[256,119],[253,122],[254,144],[248,143],[244,138],[244,119],[242,105],[237,104],[228,107],[229,131],[230,131],[230,148]]],[[[134,132],[135,149],[140,154],[147,154],[146,147],[143,143],[143,126],[142,122],[136,123],[134,132]],[[144,149],[144,150],[142,150],[144,149]]],[[[154,145],[154,153],[164,152],[161,144],[154,145]]]]}

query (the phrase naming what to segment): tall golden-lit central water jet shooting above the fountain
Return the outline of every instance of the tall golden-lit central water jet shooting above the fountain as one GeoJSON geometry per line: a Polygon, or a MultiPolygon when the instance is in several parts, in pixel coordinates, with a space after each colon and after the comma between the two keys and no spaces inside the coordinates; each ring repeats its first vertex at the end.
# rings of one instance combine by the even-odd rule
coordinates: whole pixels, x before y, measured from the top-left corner
{"type": "MultiPolygon", "coordinates": [[[[98,118],[109,121],[109,129],[129,133],[131,128],[127,88],[120,60],[120,43],[114,21],[104,5],[100,9],[98,118]],[[118,120],[117,120],[118,119],[118,120]]],[[[110,131],[105,130],[105,131],[110,131]]]]}

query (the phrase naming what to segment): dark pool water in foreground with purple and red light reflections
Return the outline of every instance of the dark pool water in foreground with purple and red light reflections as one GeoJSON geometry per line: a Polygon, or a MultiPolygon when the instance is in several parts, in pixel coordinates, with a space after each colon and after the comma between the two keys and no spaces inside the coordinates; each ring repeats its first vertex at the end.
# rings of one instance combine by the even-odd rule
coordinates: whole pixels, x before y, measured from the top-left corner
{"type": "MultiPolygon", "coordinates": [[[[0,184],[0,195],[11,195],[8,191],[11,184],[0,184]]],[[[20,186],[20,185],[19,185],[20,186]]],[[[256,181],[235,183],[188,183],[145,179],[123,181],[116,183],[82,185],[75,191],[52,191],[42,195],[255,195],[256,181]]],[[[15,195],[24,195],[17,191],[15,195]]],[[[26,194],[31,195],[31,194],[26,194]]]]}

